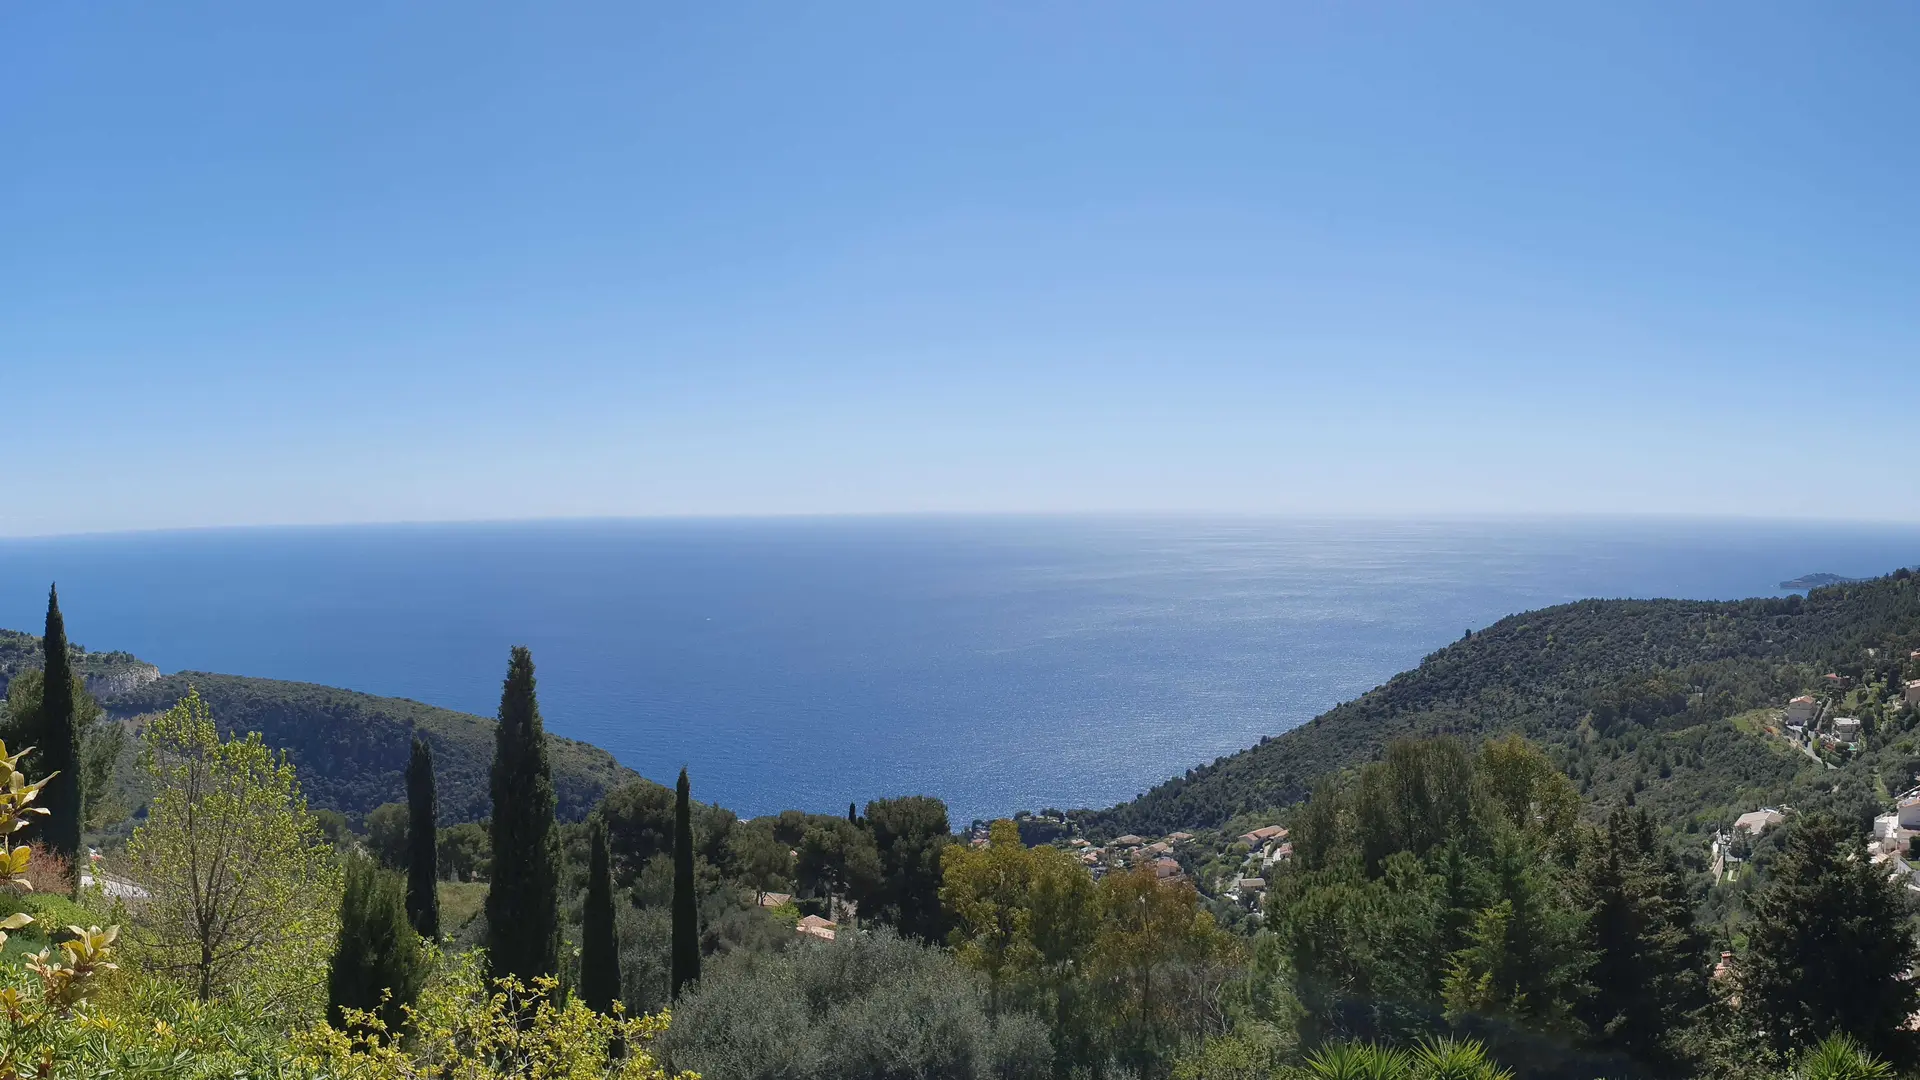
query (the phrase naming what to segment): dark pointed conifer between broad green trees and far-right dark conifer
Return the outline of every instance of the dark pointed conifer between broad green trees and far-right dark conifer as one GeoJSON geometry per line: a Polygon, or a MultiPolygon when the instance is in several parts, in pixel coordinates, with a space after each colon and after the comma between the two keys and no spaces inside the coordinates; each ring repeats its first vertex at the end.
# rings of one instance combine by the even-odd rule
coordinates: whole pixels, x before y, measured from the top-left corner
{"type": "Polygon", "coordinates": [[[1707,1005],[1707,936],[1693,924],[1686,874],[1647,811],[1617,809],[1582,853],[1574,896],[1588,913],[1592,994],[1580,1019],[1594,1042],[1674,1074],[1674,1038],[1707,1005]]]}

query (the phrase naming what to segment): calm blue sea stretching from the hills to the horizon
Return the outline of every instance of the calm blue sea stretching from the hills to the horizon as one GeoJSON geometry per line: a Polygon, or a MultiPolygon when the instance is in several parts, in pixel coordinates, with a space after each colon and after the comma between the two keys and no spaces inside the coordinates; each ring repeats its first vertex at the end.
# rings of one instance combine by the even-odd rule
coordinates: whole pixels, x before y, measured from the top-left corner
{"type": "Polygon", "coordinates": [[[939,796],[1102,807],[1284,732],[1503,615],[1780,596],[1920,563],[1920,527],[1676,519],[822,517],[0,540],[0,626],[161,671],[547,728],[743,817],[939,796]]]}

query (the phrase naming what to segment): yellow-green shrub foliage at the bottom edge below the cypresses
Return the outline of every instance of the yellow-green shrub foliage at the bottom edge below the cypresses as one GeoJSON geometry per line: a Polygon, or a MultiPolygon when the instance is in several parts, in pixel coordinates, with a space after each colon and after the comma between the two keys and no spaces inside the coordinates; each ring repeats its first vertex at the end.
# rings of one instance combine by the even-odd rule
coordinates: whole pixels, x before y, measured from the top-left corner
{"type": "Polygon", "coordinates": [[[551,978],[488,988],[480,967],[478,953],[445,959],[403,1009],[403,1040],[372,1013],[349,1011],[349,1032],[315,1024],[296,1038],[300,1067],[340,1080],[668,1080],[649,1053],[664,1013],[626,1019],[614,1005],[603,1017],[576,997],[557,1003],[551,978]]]}

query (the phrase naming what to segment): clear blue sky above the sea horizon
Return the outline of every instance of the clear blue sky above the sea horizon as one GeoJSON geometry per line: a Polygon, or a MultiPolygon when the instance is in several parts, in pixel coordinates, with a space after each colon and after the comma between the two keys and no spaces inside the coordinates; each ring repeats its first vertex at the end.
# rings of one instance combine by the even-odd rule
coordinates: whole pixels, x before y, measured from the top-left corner
{"type": "Polygon", "coordinates": [[[6,4],[0,534],[1920,519],[1914,4],[6,4]]]}

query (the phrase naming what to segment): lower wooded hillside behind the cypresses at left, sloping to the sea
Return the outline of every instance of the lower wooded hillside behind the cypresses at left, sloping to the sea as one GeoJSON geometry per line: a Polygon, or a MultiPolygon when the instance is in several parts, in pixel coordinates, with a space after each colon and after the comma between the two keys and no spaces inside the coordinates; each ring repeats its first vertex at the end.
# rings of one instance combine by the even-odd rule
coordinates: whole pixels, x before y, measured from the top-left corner
{"type": "MultiPolygon", "coordinates": [[[[315,807],[353,815],[403,799],[407,748],[419,730],[434,746],[442,822],[488,815],[492,719],[405,698],[200,671],[167,675],[102,703],[113,717],[154,713],[186,696],[188,686],[200,690],[223,732],[255,730],[267,746],[286,749],[315,807]]],[[[597,746],[549,736],[549,749],[559,813],[566,821],[584,817],[603,792],[636,776],[597,746]]]]}

